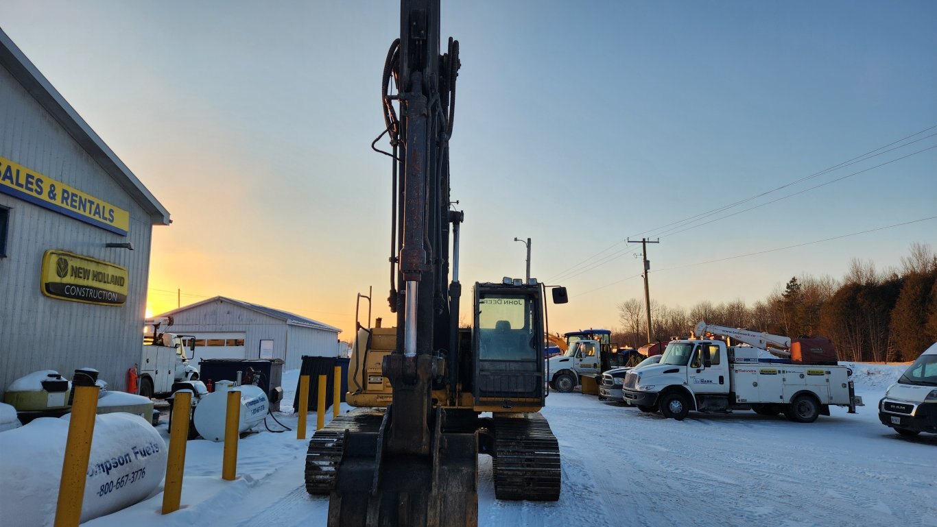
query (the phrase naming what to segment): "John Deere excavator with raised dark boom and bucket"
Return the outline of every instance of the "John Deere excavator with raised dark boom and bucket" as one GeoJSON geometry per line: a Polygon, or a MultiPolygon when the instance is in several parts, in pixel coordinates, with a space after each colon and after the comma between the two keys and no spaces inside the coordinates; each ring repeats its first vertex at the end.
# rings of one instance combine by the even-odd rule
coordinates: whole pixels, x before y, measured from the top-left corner
{"type": "MultiPolygon", "coordinates": [[[[480,453],[493,458],[498,499],[559,497],[557,439],[539,413],[547,286],[476,283],[473,326],[458,328],[464,215],[450,200],[449,139],[459,66],[457,41],[439,54],[439,0],[402,0],[378,138],[391,143],[383,154],[393,167],[388,300],[397,320],[357,324],[347,401],[358,408],[309,442],[305,487],[330,496],[333,527],[477,525],[480,453]]],[[[564,288],[551,293],[566,301],[564,288]]]]}

